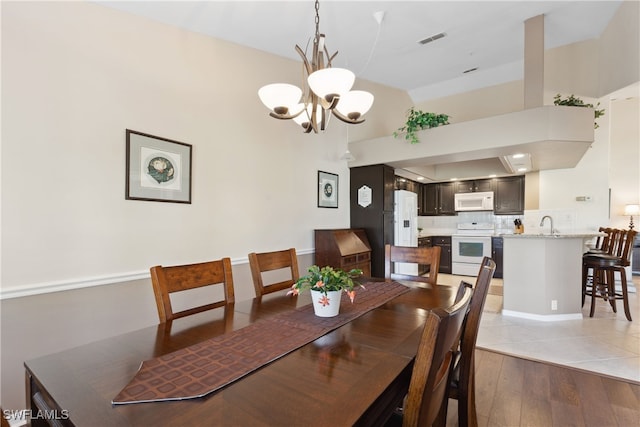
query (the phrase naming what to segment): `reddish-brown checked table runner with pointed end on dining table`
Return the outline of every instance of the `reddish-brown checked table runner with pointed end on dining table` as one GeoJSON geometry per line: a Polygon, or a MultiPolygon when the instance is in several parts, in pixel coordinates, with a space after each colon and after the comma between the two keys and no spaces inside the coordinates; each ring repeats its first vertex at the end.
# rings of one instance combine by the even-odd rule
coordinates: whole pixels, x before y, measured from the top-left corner
{"type": "Polygon", "coordinates": [[[245,328],[142,362],[112,404],[205,396],[381,306],[409,288],[370,282],[351,304],[343,292],[340,314],[317,317],[311,304],[245,328]]]}

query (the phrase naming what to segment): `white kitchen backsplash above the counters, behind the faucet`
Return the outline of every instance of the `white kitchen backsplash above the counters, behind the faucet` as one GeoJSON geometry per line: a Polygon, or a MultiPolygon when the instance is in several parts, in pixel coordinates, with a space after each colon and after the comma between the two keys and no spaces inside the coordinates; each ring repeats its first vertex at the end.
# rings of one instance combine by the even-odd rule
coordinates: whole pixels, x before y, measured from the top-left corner
{"type": "Polygon", "coordinates": [[[560,233],[594,232],[596,228],[577,228],[578,214],[570,209],[531,210],[524,215],[494,215],[493,212],[460,212],[456,216],[419,216],[418,228],[422,228],[420,236],[440,236],[456,233],[459,223],[492,223],[495,234],[513,234],[514,220],[520,219],[525,233],[541,233],[549,231],[549,221],[540,227],[543,216],[553,218],[553,228],[560,233]]]}

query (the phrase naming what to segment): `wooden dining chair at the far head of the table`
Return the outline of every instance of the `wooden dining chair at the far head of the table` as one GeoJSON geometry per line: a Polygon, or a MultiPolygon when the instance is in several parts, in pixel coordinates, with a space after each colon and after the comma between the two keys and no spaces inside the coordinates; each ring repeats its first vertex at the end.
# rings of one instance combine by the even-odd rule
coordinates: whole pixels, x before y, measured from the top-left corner
{"type": "Polygon", "coordinates": [[[387,244],[384,248],[384,277],[387,281],[410,280],[437,285],[441,250],[440,246],[392,246],[387,244]],[[414,276],[396,273],[393,265],[395,262],[429,265],[429,275],[414,276]]]}

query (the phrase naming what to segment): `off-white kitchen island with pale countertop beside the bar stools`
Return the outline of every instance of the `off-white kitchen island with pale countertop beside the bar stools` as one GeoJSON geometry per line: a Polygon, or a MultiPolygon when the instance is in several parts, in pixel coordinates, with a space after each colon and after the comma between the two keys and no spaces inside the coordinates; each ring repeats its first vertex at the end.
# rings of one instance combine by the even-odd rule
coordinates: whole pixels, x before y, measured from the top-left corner
{"type": "Polygon", "coordinates": [[[532,320],[582,318],[582,254],[590,234],[505,234],[502,314],[532,320]]]}

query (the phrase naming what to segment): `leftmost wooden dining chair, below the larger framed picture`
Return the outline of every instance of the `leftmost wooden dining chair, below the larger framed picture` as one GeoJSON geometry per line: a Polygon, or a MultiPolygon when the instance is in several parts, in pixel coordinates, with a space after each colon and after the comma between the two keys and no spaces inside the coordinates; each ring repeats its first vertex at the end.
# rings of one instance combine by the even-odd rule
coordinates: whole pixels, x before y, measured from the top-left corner
{"type": "Polygon", "coordinates": [[[230,258],[171,267],[157,265],[151,267],[150,270],[160,322],[222,307],[235,301],[230,258]],[[219,296],[213,297],[214,301],[208,304],[177,312],[173,311],[171,294],[205,286],[221,288],[222,292],[219,293],[219,296]]]}

